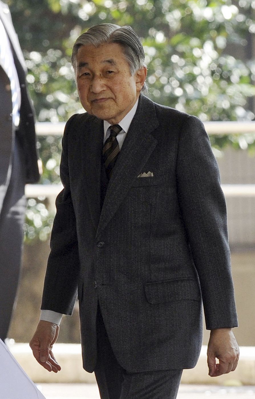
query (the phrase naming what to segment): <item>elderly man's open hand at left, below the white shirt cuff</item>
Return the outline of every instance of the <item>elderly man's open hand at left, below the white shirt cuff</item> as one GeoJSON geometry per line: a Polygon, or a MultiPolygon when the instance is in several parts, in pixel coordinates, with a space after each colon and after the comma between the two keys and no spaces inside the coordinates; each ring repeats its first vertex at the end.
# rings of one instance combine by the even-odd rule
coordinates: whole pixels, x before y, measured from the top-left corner
{"type": "Polygon", "coordinates": [[[40,320],[36,332],[29,343],[38,363],[46,370],[54,373],[61,370],[52,353],[52,346],[56,342],[58,334],[59,326],[57,324],[40,320]]]}

